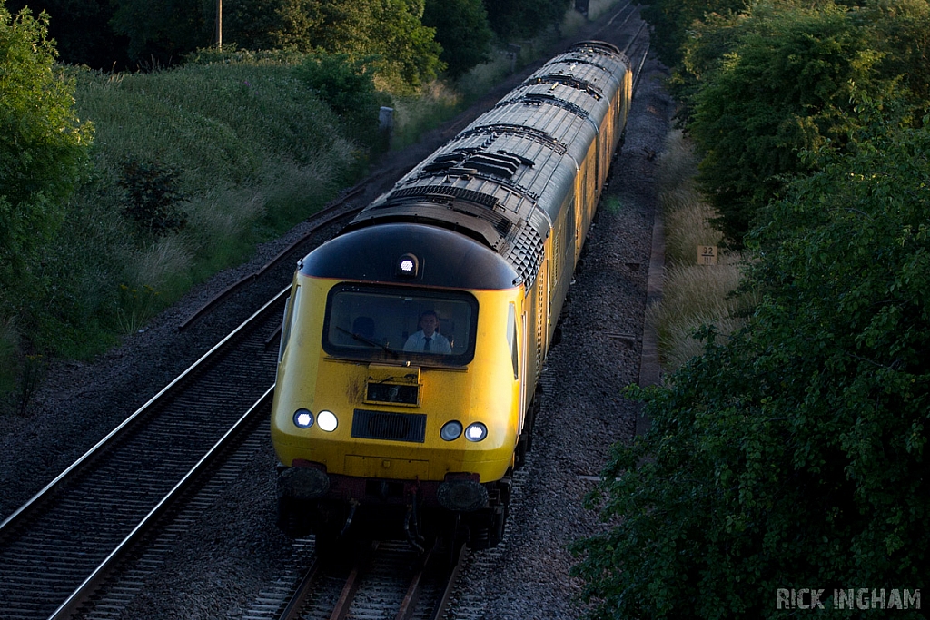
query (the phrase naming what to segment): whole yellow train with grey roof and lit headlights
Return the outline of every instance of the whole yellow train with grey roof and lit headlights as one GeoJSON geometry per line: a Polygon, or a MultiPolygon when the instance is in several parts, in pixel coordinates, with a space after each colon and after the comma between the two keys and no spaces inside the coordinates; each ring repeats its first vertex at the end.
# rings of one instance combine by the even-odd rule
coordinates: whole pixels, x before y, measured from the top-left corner
{"type": "Polygon", "coordinates": [[[272,405],[287,531],[498,544],[631,89],[617,47],[572,46],[299,262],[272,405]]]}

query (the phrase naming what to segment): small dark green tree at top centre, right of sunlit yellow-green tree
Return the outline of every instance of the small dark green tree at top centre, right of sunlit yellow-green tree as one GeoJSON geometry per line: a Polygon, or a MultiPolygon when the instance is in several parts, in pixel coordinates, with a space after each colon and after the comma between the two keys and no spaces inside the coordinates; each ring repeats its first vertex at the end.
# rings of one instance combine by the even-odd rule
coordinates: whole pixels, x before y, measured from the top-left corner
{"type": "Polygon", "coordinates": [[[423,24],[436,30],[439,58],[453,78],[489,58],[494,33],[481,0],[427,0],[423,24]]]}

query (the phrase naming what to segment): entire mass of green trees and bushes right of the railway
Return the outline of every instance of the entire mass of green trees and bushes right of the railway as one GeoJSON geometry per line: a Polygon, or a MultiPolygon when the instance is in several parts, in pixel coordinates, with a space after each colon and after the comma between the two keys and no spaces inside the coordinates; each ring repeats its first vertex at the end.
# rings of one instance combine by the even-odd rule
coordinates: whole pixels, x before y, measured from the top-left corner
{"type": "Polygon", "coordinates": [[[830,609],[866,588],[924,617],[902,607],[930,576],[930,4],[704,7],[650,14],[682,37],[682,122],[758,302],[631,389],[652,429],[591,498],[611,528],[574,547],[583,598],[597,618],[793,617],[792,590],[830,609]]]}

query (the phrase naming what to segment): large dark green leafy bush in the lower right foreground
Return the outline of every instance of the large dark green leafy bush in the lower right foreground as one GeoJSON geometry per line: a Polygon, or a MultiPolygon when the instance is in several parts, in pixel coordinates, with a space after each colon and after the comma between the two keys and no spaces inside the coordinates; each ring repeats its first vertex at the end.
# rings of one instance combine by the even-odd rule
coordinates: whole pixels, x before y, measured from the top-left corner
{"type": "Polygon", "coordinates": [[[788,617],[778,588],[829,608],[833,588],[927,587],[930,125],[857,97],[848,152],[808,152],[819,171],[752,235],[748,327],[705,331],[704,356],[641,392],[652,429],[604,471],[612,527],[575,547],[593,617],[788,617]]]}

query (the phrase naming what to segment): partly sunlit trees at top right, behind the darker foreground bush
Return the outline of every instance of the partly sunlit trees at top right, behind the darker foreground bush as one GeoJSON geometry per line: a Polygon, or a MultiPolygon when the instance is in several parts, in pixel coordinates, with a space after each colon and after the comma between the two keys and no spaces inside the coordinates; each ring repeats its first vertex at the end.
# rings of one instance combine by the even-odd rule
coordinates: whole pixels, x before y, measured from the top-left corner
{"type": "Polygon", "coordinates": [[[726,0],[657,0],[646,13],[669,33],[664,57],[702,157],[698,181],[737,247],[790,177],[811,171],[800,151],[845,148],[856,128],[854,87],[895,93],[915,118],[928,100],[925,0],[763,0],[741,11],[726,0]]]}

